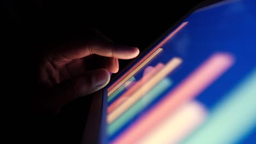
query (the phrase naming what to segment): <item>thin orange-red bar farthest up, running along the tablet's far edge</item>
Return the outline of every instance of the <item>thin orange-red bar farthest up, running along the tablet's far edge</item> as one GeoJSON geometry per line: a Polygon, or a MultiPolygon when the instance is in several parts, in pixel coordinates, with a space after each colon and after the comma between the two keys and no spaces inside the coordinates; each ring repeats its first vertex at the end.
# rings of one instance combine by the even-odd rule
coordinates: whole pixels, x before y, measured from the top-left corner
{"type": "Polygon", "coordinates": [[[183,22],[179,27],[177,27],[170,35],[168,35],[164,40],[161,41],[158,45],[154,47],[152,51],[150,51],[146,56],[144,56],[138,63],[136,63],[130,70],[127,71],[123,76],[120,77],[116,82],[114,82],[109,88],[108,92],[118,85],[120,81],[122,81],[127,75],[129,75],[133,70],[135,70],[138,65],[140,65],[142,62],[144,62],[152,53],[154,53],[156,50],[158,50],[162,45],[166,43],[166,41],[170,40],[176,33],[178,33],[185,25],[187,25],[188,22],[183,22]]]}

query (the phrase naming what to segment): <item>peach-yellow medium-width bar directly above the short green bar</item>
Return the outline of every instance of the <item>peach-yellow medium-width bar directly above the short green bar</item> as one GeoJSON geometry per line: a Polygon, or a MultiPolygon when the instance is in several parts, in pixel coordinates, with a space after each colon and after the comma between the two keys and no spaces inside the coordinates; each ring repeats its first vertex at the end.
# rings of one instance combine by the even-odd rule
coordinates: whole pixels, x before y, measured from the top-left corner
{"type": "Polygon", "coordinates": [[[174,69],[178,67],[179,64],[182,63],[181,58],[174,57],[169,61],[164,68],[162,68],[156,75],[152,77],[146,83],[143,83],[142,87],[138,89],[135,93],[133,93],[123,104],[121,104],[117,109],[110,112],[107,116],[107,122],[113,122],[117,117],[119,117],[125,110],[129,109],[131,105],[136,103],[138,99],[140,99],[144,94],[146,94],[151,88],[158,84],[162,79],[164,79],[168,74],[171,73],[174,69]]]}

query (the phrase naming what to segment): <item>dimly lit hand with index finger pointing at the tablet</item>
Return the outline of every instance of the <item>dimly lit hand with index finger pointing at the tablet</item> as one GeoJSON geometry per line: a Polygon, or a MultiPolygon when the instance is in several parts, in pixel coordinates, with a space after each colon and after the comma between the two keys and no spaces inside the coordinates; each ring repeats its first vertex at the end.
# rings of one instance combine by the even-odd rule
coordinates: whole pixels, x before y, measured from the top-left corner
{"type": "Polygon", "coordinates": [[[118,72],[118,59],[135,58],[139,53],[137,47],[116,45],[98,32],[85,39],[43,55],[37,111],[56,113],[69,101],[98,91],[107,85],[110,73],[118,72]]]}

